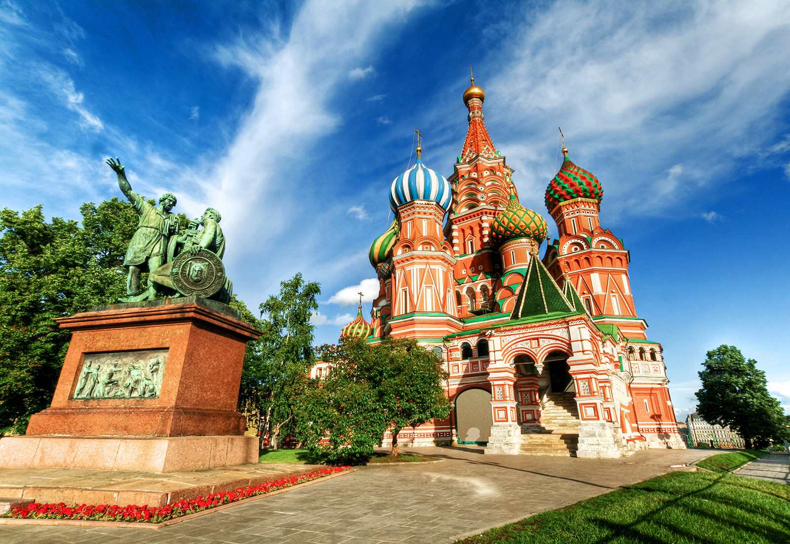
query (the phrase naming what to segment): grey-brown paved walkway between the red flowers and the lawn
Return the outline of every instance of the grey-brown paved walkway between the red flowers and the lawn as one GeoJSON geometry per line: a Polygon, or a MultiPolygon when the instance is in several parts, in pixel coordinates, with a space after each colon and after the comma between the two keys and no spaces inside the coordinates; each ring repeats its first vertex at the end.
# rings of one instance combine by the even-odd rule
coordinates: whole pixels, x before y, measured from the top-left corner
{"type": "Polygon", "coordinates": [[[709,450],[649,450],[619,460],[589,460],[482,455],[474,446],[419,452],[446,461],[363,467],[157,531],[0,525],[0,542],[453,542],[710,455],[709,450]]]}

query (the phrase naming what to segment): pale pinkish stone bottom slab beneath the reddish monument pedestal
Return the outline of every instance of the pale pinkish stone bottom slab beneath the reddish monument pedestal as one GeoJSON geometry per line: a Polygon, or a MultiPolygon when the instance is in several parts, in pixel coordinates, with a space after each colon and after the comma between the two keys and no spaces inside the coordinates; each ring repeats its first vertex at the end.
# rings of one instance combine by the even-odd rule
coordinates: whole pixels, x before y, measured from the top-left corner
{"type": "Polygon", "coordinates": [[[2,468],[177,472],[258,463],[258,437],[75,437],[0,439],[2,468]]]}

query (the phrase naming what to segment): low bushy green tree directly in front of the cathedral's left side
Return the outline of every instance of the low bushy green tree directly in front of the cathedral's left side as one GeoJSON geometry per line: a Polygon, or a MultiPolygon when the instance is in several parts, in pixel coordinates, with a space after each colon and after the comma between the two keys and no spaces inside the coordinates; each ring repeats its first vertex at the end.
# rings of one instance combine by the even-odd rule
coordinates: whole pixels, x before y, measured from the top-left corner
{"type": "Polygon", "coordinates": [[[397,456],[401,430],[450,414],[442,362],[416,340],[387,338],[371,345],[345,338],[339,346],[323,347],[322,359],[332,370],[306,398],[301,429],[308,446],[324,455],[371,456],[390,429],[390,455],[397,456]]]}

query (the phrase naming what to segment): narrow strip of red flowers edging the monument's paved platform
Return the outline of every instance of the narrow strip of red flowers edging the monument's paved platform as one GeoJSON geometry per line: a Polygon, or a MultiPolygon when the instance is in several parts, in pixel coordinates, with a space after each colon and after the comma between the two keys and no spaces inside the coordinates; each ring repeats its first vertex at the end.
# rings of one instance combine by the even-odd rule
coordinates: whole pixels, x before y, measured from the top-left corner
{"type": "Polygon", "coordinates": [[[276,482],[265,482],[258,486],[239,487],[234,491],[220,491],[205,497],[197,497],[188,501],[171,502],[158,508],[149,505],[65,505],[62,502],[50,505],[31,503],[25,506],[14,506],[2,517],[29,520],[92,520],[92,521],[125,521],[139,523],[160,523],[180,516],[187,516],[220,505],[241,501],[247,497],[255,497],[285,487],[310,482],[348,470],[350,467],[330,467],[310,472],[293,478],[282,478],[276,482]]]}

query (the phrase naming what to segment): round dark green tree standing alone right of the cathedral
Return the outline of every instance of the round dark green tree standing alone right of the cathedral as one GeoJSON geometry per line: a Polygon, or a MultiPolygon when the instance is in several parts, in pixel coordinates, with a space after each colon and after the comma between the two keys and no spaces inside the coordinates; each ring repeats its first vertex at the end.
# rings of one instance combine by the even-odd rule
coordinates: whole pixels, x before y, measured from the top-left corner
{"type": "Polygon", "coordinates": [[[735,346],[721,345],[708,351],[703,366],[697,400],[705,421],[730,426],[747,448],[790,438],[787,418],[769,394],[766,373],[757,368],[757,361],[744,358],[735,346]]]}

